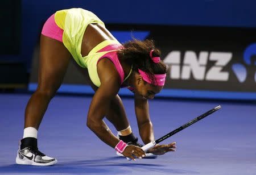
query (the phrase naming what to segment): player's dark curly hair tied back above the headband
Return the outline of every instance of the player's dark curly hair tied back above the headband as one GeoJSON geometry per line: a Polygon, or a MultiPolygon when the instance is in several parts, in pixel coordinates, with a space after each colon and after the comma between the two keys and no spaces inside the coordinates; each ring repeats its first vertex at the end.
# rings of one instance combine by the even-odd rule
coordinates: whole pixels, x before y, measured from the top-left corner
{"type": "Polygon", "coordinates": [[[154,74],[164,74],[168,70],[168,66],[161,60],[155,63],[150,57],[150,51],[153,49],[152,57],[160,57],[159,49],[155,48],[154,41],[140,41],[134,39],[123,44],[123,49],[118,51],[119,59],[126,64],[133,65],[133,70],[138,72],[138,69],[143,70],[154,81],[154,74]]]}

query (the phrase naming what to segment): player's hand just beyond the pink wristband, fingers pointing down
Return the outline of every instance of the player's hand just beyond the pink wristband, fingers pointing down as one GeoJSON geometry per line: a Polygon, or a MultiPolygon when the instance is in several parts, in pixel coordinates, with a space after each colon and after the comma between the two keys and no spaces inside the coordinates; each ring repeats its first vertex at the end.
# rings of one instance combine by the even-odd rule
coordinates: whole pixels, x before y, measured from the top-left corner
{"type": "Polygon", "coordinates": [[[134,145],[128,145],[125,150],[122,152],[123,156],[129,157],[130,159],[133,159],[135,161],[135,157],[138,157],[139,159],[142,159],[142,157],[146,156],[143,149],[134,146],[134,145]]]}

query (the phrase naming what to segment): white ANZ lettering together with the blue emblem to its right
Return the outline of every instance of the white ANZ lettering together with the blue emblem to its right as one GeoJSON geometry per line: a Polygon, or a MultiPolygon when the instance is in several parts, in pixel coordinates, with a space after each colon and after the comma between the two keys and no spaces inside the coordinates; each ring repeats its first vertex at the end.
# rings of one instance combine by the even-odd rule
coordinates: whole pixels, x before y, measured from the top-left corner
{"type": "MultiPolygon", "coordinates": [[[[256,43],[249,45],[243,53],[243,61],[246,65],[256,65],[251,62],[251,57],[256,56],[256,43]]],[[[198,55],[194,51],[184,53],[181,64],[181,51],[172,51],[164,58],[166,64],[171,65],[170,78],[173,80],[189,80],[193,77],[198,81],[228,81],[229,72],[224,70],[225,66],[232,60],[232,52],[207,52],[201,51],[198,55]],[[208,61],[213,61],[210,68],[208,61]]],[[[244,64],[232,65],[232,70],[239,82],[244,82],[247,77],[247,70],[244,64]]],[[[256,82],[256,72],[254,76],[256,82]]]]}

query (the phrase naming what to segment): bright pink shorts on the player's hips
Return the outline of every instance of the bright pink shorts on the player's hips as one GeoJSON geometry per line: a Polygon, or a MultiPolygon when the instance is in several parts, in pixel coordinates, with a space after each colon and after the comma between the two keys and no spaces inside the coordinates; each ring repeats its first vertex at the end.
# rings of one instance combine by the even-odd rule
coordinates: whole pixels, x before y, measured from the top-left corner
{"type": "Polygon", "coordinates": [[[49,38],[55,39],[63,43],[62,36],[63,36],[63,29],[61,29],[55,23],[54,15],[51,15],[46,23],[44,23],[43,30],[41,32],[42,35],[48,36],[49,38]]]}

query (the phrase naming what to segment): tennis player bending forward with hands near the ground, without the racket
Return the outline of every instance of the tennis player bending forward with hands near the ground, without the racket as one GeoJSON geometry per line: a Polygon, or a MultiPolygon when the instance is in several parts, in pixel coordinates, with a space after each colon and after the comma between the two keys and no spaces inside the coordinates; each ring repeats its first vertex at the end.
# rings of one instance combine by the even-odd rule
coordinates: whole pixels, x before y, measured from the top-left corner
{"type": "MultiPolygon", "coordinates": [[[[159,56],[160,51],[151,40],[120,44],[90,11],[60,10],[50,16],[40,38],[38,87],[26,107],[16,163],[42,166],[57,163],[57,159],[38,150],[37,134],[71,57],[95,91],[87,117],[90,130],[120,155],[133,160],[146,156],[131,130],[118,91],[121,87],[133,91],[139,135],[144,144],[153,141],[148,99],[162,90],[168,69],[159,56]],[[104,117],[117,129],[117,137],[104,123],[104,117]]],[[[156,145],[148,153],[163,155],[175,148],[175,143],[156,145]]]]}

